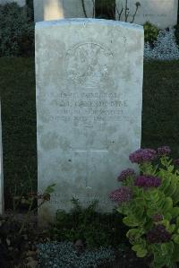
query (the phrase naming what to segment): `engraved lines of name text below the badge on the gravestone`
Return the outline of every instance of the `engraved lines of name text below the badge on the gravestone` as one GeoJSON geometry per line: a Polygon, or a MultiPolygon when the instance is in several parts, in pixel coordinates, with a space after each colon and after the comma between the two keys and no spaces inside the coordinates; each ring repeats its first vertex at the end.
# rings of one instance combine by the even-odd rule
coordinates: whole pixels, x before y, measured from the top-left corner
{"type": "MultiPolygon", "coordinates": [[[[94,125],[126,116],[128,103],[119,93],[60,92],[56,115],[51,119],[71,122],[72,125],[94,125]]],[[[125,118],[127,119],[127,117],[125,118]]]]}

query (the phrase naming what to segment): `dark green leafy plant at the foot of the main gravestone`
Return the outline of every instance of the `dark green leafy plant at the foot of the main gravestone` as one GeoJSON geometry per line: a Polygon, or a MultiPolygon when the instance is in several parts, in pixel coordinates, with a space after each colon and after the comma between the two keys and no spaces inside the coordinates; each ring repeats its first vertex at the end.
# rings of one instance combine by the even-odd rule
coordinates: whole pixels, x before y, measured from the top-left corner
{"type": "Polygon", "coordinates": [[[75,242],[79,239],[87,247],[115,246],[126,242],[124,233],[127,231],[122,218],[116,212],[102,214],[96,212],[97,202],[82,208],[78,200],[73,199],[72,211],[56,212],[55,225],[50,234],[60,241],[75,242]]]}

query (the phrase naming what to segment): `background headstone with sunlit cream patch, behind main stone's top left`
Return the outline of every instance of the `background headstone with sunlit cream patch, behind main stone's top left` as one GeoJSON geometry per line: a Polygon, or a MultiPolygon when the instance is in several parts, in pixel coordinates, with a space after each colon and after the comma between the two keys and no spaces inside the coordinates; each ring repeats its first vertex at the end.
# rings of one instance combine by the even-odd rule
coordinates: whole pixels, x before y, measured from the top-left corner
{"type": "MultiPolygon", "coordinates": [[[[84,0],[84,4],[88,17],[92,17],[92,1],[84,0]]],[[[81,0],[34,0],[35,22],[78,17],[85,17],[81,0]]]]}

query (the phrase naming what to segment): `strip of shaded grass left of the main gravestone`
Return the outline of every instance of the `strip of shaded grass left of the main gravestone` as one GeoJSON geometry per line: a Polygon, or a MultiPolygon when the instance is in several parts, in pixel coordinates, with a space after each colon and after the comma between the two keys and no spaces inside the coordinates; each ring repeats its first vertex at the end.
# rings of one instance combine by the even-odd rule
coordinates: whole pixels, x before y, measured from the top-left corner
{"type": "Polygon", "coordinates": [[[37,188],[35,70],[32,58],[0,58],[4,192],[37,188]]]}

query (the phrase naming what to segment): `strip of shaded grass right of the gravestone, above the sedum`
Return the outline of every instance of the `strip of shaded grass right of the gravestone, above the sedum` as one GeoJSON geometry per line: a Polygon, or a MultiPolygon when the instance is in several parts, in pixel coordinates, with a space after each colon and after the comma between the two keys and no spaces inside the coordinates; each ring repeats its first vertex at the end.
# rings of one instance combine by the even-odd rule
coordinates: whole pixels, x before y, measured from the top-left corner
{"type": "Polygon", "coordinates": [[[179,61],[144,65],[143,147],[169,145],[179,157],[179,61]]]}

